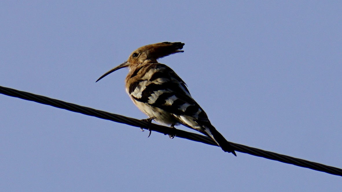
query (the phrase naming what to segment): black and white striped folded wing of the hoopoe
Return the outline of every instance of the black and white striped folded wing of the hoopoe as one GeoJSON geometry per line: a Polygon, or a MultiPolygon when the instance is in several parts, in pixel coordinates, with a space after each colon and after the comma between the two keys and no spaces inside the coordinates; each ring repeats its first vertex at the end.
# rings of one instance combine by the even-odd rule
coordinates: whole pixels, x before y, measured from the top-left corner
{"type": "Polygon", "coordinates": [[[142,80],[129,87],[129,94],[136,101],[168,113],[208,121],[205,112],[191,97],[184,81],[167,65],[152,65],[142,80]]]}

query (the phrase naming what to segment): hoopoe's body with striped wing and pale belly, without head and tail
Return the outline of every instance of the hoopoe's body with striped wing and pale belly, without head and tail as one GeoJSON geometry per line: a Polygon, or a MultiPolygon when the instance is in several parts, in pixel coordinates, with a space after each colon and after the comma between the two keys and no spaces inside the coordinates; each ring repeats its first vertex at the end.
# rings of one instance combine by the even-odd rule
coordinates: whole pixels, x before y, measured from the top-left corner
{"type": "Polygon", "coordinates": [[[126,77],[126,88],[132,101],[160,123],[183,124],[203,132],[199,123],[209,122],[184,81],[165,64],[142,64],[131,70],[126,77]]]}

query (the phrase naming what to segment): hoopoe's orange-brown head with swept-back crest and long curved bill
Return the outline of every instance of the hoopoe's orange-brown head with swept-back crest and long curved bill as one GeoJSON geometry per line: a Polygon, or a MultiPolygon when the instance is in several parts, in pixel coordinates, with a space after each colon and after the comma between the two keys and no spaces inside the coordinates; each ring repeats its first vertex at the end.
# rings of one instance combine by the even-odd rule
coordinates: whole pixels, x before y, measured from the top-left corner
{"type": "Polygon", "coordinates": [[[182,49],[184,46],[184,43],[181,42],[162,42],[162,43],[155,43],[151,45],[145,45],[142,47],[137,48],[135,51],[132,52],[132,54],[128,57],[127,61],[118,65],[117,67],[109,70],[107,73],[103,74],[100,78],[96,80],[98,82],[103,77],[109,75],[110,73],[121,69],[125,67],[136,67],[140,64],[145,63],[156,63],[157,59],[179,53],[184,52],[180,49],[182,49]]]}

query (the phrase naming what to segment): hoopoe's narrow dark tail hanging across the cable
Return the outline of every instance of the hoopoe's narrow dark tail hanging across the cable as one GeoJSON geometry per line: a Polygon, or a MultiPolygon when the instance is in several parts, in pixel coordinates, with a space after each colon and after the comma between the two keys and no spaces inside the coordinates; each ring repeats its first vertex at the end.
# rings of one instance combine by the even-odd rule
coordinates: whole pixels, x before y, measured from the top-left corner
{"type": "Polygon", "coordinates": [[[231,144],[229,144],[229,142],[223,137],[223,135],[221,135],[220,132],[218,132],[215,127],[213,125],[203,125],[203,127],[205,128],[206,133],[212,138],[214,139],[214,141],[221,147],[221,149],[225,152],[228,153],[233,153],[236,156],[236,153],[233,149],[233,147],[231,146],[231,144]]]}

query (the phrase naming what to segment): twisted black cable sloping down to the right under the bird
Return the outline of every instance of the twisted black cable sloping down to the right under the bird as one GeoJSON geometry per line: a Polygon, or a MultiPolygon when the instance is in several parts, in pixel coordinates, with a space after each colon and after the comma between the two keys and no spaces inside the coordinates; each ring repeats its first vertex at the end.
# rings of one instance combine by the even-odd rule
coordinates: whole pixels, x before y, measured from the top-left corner
{"type": "MultiPolygon", "coordinates": [[[[92,109],[89,107],[76,105],[73,103],[67,103],[64,101],[51,99],[51,98],[44,97],[41,95],[36,95],[36,94],[24,92],[24,91],[18,91],[15,89],[1,87],[1,86],[0,86],[0,93],[11,96],[11,97],[17,97],[20,99],[34,101],[34,102],[45,104],[45,105],[51,105],[57,108],[66,109],[66,110],[81,113],[84,115],[94,116],[94,117],[98,117],[101,119],[107,119],[107,120],[111,120],[111,121],[115,121],[119,123],[128,124],[134,127],[143,127],[144,129],[146,129],[146,127],[149,127],[152,131],[156,131],[159,133],[168,134],[168,135],[177,135],[177,137],[186,138],[192,141],[217,146],[216,143],[210,137],[207,137],[207,136],[199,135],[196,133],[190,133],[190,132],[186,132],[186,131],[179,130],[179,129],[172,129],[169,127],[165,127],[165,126],[157,125],[153,123],[148,124],[147,122],[144,122],[138,119],[133,119],[130,117],[125,117],[125,116],[117,115],[117,114],[112,114],[112,113],[104,112],[101,110],[96,110],[96,109],[92,109]]],[[[261,149],[257,149],[253,147],[248,147],[248,146],[240,145],[236,143],[230,143],[230,144],[235,148],[234,149],[235,151],[239,151],[242,153],[247,153],[253,156],[263,157],[266,159],[271,159],[271,160],[275,160],[275,161],[279,161],[283,163],[297,165],[300,167],[310,168],[316,171],[321,171],[321,172],[329,173],[332,175],[342,176],[342,169],[337,168],[337,167],[323,165],[320,163],[298,159],[298,158],[294,158],[294,157],[290,157],[290,156],[286,156],[286,155],[282,155],[282,154],[278,154],[278,153],[274,153],[270,151],[265,151],[265,150],[261,150],[261,149]]]]}

